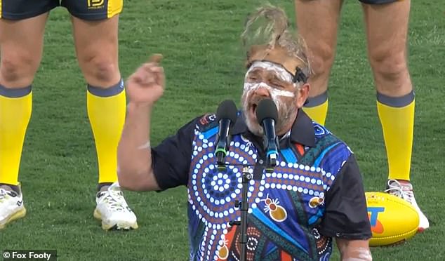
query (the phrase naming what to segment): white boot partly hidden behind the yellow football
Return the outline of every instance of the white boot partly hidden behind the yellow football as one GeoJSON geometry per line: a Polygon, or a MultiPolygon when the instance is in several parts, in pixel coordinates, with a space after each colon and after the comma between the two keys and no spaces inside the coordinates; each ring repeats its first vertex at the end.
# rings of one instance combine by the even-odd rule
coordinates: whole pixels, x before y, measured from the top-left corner
{"type": "Polygon", "coordinates": [[[417,213],[419,214],[418,232],[423,232],[425,229],[430,227],[430,222],[425,214],[423,214],[422,210],[420,210],[416,199],[414,198],[413,185],[411,185],[411,182],[404,180],[388,180],[387,189],[385,192],[408,201],[411,203],[411,206],[416,208],[417,213]]]}

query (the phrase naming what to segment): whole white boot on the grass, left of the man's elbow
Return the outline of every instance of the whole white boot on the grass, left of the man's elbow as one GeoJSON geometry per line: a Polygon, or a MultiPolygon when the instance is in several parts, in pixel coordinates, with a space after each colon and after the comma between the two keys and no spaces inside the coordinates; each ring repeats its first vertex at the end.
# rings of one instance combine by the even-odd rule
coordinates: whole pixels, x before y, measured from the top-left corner
{"type": "Polygon", "coordinates": [[[133,210],[124,199],[118,182],[114,182],[106,190],[96,195],[97,206],[94,217],[102,221],[102,229],[137,229],[138,222],[133,210]]]}

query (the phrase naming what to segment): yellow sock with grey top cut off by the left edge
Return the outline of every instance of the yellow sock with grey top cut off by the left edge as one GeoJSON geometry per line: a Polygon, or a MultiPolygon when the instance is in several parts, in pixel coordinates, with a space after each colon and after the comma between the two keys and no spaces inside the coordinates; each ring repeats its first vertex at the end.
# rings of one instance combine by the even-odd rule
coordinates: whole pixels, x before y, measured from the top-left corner
{"type": "Polygon", "coordinates": [[[0,85],[0,183],[18,185],[20,158],[31,110],[31,86],[8,89],[0,85]]]}

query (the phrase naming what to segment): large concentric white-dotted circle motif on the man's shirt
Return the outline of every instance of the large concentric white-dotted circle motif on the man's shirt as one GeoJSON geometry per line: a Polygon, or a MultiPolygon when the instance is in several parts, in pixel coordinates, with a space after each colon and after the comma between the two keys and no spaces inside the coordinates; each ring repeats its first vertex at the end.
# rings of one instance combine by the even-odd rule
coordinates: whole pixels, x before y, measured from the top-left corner
{"type": "MultiPolygon", "coordinates": [[[[239,219],[239,209],[234,207],[234,202],[241,201],[242,166],[255,163],[256,149],[235,137],[226,156],[229,164],[223,171],[215,165],[213,142],[203,135],[194,142],[194,152],[197,153],[192,159],[192,177],[188,186],[192,210],[207,227],[225,229],[228,222],[239,219]]],[[[249,171],[253,173],[253,168],[249,171]]],[[[251,180],[248,185],[250,204],[254,203],[260,187],[260,182],[251,180]]]]}

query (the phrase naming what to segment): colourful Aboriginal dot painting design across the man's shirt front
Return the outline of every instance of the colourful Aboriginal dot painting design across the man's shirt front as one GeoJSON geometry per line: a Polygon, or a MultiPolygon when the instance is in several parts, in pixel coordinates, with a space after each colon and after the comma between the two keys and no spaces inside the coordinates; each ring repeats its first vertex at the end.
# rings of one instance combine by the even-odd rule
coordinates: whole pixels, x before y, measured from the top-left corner
{"type": "MultiPolygon", "coordinates": [[[[322,127],[315,129],[319,135],[326,134],[322,127]]],[[[215,131],[211,133],[196,131],[193,142],[191,176],[187,186],[193,248],[191,260],[239,260],[241,250],[235,242],[240,236],[240,228],[231,227],[229,222],[240,219],[234,201],[241,201],[242,165],[253,165],[258,159],[258,151],[241,135],[234,136],[226,156],[229,166],[220,171],[213,157],[215,131]]],[[[298,163],[295,156],[280,156],[273,173],[263,173],[261,180],[250,181],[247,253],[251,258],[248,260],[263,258],[265,253],[269,253],[267,258],[270,260],[286,260],[291,256],[328,259],[331,241],[308,227],[321,220],[324,194],[335,180],[335,175],[320,167],[322,159],[319,158],[335,148],[324,145],[310,155],[314,161],[318,159],[318,165],[298,163]],[[307,223],[307,227],[295,227],[294,220],[307,223]]],[[[253,173],[253,169],[249,172],[253,173]]]]}

